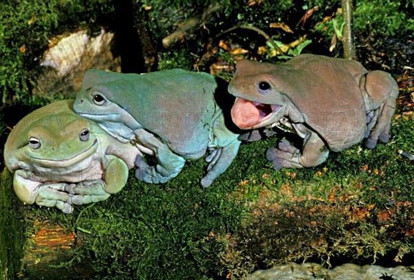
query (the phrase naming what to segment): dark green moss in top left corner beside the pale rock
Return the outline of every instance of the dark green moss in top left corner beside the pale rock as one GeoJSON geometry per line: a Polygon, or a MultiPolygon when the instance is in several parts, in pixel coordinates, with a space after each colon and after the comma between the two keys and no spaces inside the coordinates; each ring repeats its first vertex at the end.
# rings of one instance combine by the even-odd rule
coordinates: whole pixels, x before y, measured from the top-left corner
{"type": "Polygon", "coordinates": [[[30,99],[31,82],[40,72],[39,60],[49,39],[82,24],[104,24],[113,12],[108,0],[1,1],[1,102],[30,99]]]}

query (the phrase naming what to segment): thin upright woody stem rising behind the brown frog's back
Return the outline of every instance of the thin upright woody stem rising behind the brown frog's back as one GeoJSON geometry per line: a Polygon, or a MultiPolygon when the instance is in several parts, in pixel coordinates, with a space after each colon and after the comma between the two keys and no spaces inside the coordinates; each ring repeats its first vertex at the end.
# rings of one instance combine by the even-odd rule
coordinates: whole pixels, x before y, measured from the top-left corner
{"type": "Polygon", "coordinates": [[[352,32],[352,0],[342,0],[342,18],[344,19],[344,36],[342,37],[342,44],[344,44],[344,58],[355,59],[356,50],[355,44],[353,43],[353,32],[352,32]]]}

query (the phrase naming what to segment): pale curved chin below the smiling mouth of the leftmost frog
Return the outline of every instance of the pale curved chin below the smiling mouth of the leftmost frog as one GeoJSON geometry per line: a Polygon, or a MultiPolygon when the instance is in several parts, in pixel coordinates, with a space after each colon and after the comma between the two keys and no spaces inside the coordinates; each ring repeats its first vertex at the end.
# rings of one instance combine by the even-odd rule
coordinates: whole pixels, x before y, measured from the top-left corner
{"type": "Polygon", "coordinates": [[[86,149],[85,151],[79,153],[77,156],[74,156],[72,158],[62,158],[62,159],[51,159],[51,158],[39,158],[37,155],[35,156],[32,153],[28,153],[26,151],[26,156],[30,157],[30,160],[44,168],[70,168],[75,167],[76,165],[79,165],[80,162],[88,161],[89,159],[92,159],[92,156],[95,154],[95,152],[98,149],[98,140],[95,138],[95,141],[86,149]]]}

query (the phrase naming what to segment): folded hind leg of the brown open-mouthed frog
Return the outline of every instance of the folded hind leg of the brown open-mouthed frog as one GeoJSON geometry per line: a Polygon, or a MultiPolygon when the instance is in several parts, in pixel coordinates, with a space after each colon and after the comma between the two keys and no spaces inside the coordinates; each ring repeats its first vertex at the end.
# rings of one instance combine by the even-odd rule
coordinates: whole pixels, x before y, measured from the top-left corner
{"type": "Polygon", "coordinates": [[[395,112],[395,100],[398,95],[398,85],[384,71],[372,71],[365,77],[363,92],[366,94],[368,111],[374,111],[374,118],[367,124],[365,147],[373,149],[377,141],[383,143],[389,140],[391,119],[395,112]]]}

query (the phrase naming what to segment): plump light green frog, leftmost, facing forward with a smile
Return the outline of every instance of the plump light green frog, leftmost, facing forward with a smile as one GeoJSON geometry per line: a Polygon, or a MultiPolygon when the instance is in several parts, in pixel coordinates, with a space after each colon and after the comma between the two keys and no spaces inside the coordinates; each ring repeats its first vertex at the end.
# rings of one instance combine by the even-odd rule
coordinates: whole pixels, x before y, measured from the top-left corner
{"type": "Polygon", "coordinates": [[[24,203],[57,207],[106,200],[119,192],[141,153],[112,138],[61,100],[26,115],[4,147],[14,191],[24,203]]]}

